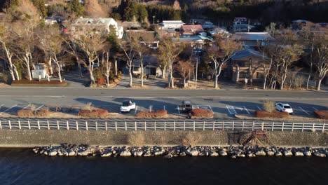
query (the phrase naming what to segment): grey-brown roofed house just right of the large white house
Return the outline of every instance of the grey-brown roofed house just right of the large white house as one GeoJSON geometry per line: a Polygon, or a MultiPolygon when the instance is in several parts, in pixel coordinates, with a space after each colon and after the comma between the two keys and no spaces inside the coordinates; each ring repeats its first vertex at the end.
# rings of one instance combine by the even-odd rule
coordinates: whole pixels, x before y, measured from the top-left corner
{"type": "Polygon", "coordinates": [[[129,29],[125,30],[123,39],[127,39],[129,34],[139,36],[140,43],[144,43],[149,48],[156,50],[158,48],[159,40],[156,32],[147,31],[146,29],[129,29]]]}

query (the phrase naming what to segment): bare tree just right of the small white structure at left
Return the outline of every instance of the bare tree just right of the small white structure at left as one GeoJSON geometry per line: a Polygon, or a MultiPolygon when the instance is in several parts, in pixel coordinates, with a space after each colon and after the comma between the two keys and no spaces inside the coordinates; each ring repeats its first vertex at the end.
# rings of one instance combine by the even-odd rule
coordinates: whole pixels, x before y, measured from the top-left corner
{"type": "Polygon", "coordinates": [[[63,39],[60,36],[60,29],[58,27],[47,26],[43,28],[39,34],[39,45],[49,57],[50,71],[52,71],[52,62],[57,66],[57,74],[60,82],[62,82],[61,63],[57,55],[62,52],[63,39]]]}

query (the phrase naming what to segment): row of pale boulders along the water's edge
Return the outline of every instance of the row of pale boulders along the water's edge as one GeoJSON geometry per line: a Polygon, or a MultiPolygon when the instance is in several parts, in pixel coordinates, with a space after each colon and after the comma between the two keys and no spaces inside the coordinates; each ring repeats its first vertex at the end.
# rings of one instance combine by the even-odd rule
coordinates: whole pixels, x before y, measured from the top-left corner
{"type": "Polygon", "coordinates": [[[59,146],[41,146],[33,149],[43,156],[163,156],[174,158],[183,156],[228,156],[231,158],[253,158],[256,156],[328,156],[328,148],[262,147],[262,146],[89,146],[88,144],[60,144],[59,146]]]}

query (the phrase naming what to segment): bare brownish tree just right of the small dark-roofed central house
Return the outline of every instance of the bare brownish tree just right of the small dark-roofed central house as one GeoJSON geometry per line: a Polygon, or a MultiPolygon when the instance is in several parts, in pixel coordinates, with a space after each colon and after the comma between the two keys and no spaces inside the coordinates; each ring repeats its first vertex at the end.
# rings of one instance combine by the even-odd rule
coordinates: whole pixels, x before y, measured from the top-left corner
{"type": "Polygon", "coordinates": [[[174,88],[174,78],[173,64],[177,61],[178,55],[184,50],[184,46],[181,43],[177,43],[172,41],[170,38],[163,39],[161,42],[158,53],[160,55],[161,60],[168,67],[168,86],[169,88],[174,88]]]}

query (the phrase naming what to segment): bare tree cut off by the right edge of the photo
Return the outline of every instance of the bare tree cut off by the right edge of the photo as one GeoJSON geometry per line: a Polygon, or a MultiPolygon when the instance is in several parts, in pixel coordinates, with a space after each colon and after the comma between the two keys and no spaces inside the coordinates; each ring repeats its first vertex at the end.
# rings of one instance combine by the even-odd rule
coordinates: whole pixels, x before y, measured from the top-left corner
{"type": "Polygon", "coordinates": [[[315,48],[315,60],[313,62],[317,69],[317,90],[320,90],[321,81],[328,72],[328,44],[323,41],[315,48]]]}

